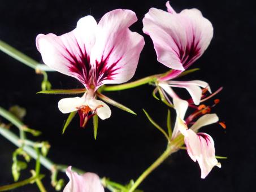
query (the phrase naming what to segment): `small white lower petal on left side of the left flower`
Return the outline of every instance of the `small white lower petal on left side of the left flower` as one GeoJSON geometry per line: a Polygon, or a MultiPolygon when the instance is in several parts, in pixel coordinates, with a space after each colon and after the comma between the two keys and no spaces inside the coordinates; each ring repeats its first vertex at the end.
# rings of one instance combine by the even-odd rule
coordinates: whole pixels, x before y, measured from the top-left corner
{"type": "Polygon", "coordinates": [[[72,111],[77,111],[77,109],[84,104],[86,104],[84,97],[72,97],[60,99],[58,107],[63,114],[68,114],[72,111]]]}

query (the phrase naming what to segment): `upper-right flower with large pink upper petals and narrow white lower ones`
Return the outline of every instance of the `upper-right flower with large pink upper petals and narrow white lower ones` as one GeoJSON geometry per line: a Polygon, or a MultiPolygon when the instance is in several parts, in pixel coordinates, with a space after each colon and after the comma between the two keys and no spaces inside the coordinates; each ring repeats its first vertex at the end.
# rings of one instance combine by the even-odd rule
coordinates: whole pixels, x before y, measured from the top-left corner
{"type": "Polygon", "coordinates": [[[213,36],[212,24],[196,8],[176,13],[169,1],[166,6],[168,12],[150,8],[143,19],[143,31],[153,40],[158,61],[172,69],[158,79],[159,86],[172,98],[179,97],[171,87],[185,88],[193,102],[199,104],[200,87],[210,91],[206,82],[170,80],[191,66],[207,49],[213,36]]]}

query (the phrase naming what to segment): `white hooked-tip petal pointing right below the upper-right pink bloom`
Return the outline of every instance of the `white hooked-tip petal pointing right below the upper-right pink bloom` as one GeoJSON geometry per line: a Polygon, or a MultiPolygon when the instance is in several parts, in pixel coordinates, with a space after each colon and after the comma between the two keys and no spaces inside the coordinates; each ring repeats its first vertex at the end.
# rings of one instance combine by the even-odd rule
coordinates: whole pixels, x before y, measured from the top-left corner
{"type": "Polygon", "coordinates": [[[202,96],[202,88],[207,88],[209,92],[211,93],[211,89],[209,84],[205,81],[167,81],[168,84],[172,87],[177,88],[185,88],[188,90],[189,94],[191,95],[194,104],[199,104],[202,96]]]}

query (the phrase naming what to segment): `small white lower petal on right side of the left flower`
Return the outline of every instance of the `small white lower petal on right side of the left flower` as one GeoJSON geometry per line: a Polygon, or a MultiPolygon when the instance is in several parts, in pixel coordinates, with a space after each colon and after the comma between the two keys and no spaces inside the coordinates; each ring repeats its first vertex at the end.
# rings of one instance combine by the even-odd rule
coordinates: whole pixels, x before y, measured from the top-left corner
{"type": "Polygon", "coordinates": [[[91,99],[88,102],[88,106],[92,108],[93,110],[97,110],[97,115],[102,120],[107,119],[111,116],[111,110],[110,107],[104,103],[103,101],[97,100],[97,99],[91,99]]]}

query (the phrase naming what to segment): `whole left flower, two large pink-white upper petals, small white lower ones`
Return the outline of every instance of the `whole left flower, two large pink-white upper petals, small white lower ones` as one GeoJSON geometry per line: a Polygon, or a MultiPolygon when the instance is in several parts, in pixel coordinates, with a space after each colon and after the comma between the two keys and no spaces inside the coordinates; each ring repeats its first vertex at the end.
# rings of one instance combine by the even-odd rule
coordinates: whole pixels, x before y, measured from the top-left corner
{"type": "Polygon", "coordinates": [[[131,10],[107,12],[97,24],[92,16],[85,16],[77,27],[62,36],[38,34],[36,45],[44,63],[56,71],[75,77],[86,88],[83,97],[59,101],[63,113],[78,111],[81,126],[98,115],[107,119],[111,110],[96,99],[96,90],[103,84],[120,84],[130,80],[137,68],[144,47],[144,38],[131,32],[137,21],[131,10]]]}

